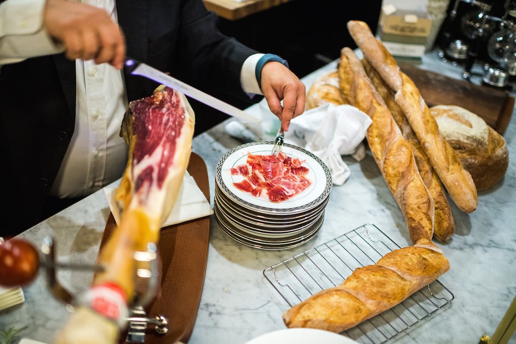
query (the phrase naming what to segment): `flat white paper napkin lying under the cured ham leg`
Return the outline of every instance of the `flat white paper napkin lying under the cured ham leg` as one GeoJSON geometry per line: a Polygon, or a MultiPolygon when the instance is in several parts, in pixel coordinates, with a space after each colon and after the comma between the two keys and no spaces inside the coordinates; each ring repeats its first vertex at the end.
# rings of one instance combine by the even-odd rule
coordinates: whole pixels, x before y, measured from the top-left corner
{"type": "MultiPolygon", "coordinates": [[[[115,217],[115,221],[119,223],[118,216],[115,215],[117,212],[114,211],[115,203],[112,199],[113,192],[115,192],[115,187],[104,187],[104,193],[106,194],[107,202],[109,203],[109,209],[111,209],[111,213],[115,217]]],[[[175,225],[176,223],[182,223],[212,214],[213,209],[211,208],[211,205],[209,205],[209,202],[206,200],[206,197],[204,197],[204,194],[195,180],[190,176],[188,171],[186,171],[183,176],[183,182],[181,183],[178,199],[162,227],[175,225]]]]}

